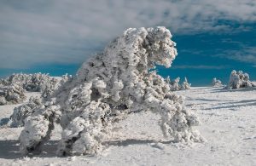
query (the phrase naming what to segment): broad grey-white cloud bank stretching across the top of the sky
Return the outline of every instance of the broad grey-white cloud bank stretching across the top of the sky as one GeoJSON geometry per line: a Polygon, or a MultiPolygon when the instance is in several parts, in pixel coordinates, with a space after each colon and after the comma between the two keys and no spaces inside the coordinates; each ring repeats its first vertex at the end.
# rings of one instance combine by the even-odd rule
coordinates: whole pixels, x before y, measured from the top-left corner
{"type": "Polygon", "coordinates": [[[231,31],[218,20],[255,21],[255,8],[254,0],[3,0],[0,68],[80,63],[128,27],[231,31]]]}

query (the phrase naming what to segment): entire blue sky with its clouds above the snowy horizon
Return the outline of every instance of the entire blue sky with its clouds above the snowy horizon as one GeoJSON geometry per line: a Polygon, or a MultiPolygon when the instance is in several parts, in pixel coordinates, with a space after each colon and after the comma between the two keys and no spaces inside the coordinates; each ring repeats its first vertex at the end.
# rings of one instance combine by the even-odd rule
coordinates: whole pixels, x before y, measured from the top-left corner
{"type": "Polygon", "coordinates": [[[166,26],[178,55],[162,76],[199,86],[235,69],[256,80],[255,9],[255,0],[1,0],[0,77],[74,74],[126,28],[166,26]]]}

